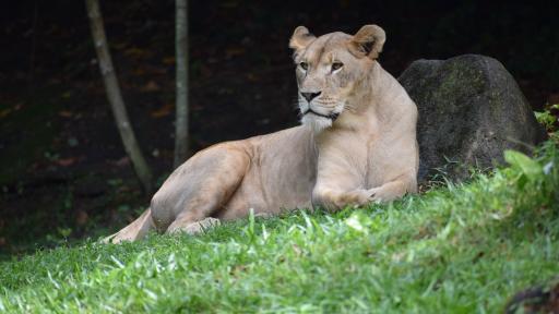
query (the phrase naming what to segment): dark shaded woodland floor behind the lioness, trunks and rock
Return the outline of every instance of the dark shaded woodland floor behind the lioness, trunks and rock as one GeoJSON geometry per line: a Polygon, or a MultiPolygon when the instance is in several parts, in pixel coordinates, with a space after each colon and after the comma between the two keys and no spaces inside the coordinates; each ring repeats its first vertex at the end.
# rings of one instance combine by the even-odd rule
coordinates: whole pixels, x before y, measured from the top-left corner
{"type": "MultiPolygon", "coordinates": [[[[417,59],[501,61],[536,110],[559,102],[554,1],[190,1],[191,147],[297,123],[293,29],[378,24],[394,76],[417,59]]],[[[173,164],[174,1],[100,1],[136,136],[160,183],[173,164]]],[[[107,234],[143,195],[105,98],[83,1],[0,7],[0,253],[107,234]]],[[[1,255],[1,254],[0,254],[1,255]]]]}

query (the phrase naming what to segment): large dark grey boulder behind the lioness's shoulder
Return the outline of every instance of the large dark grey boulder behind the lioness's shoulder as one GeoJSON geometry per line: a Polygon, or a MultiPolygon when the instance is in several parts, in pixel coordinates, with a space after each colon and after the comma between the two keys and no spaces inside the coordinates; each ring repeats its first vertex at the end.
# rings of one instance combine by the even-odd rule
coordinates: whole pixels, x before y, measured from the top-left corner
{"type": "Polygon", "coordinates": [[[495,166],[504,149],[528,153],[546,136],[512,75],[492,58],[418,60],[399,81],[419,109],[419,182],[440,169],[464,179],[469,166],[495,166]]]}

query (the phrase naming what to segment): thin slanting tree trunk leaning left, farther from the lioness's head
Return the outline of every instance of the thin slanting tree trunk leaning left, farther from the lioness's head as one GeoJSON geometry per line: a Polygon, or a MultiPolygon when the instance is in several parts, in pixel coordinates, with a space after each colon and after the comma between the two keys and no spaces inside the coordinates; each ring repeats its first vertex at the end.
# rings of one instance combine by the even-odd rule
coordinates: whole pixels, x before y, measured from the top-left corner
{"type": "Polygon", "coordinates": [[[135,174],[142,183],[144,192],[151,193],[152,171],[150,170],[147,162],[145,162],[142,152],[140,150],[140,146],[138,145],[138,141],[135,140],[132,125],[128,119],[127,109],[117,81],[117,74],[115,73],[115,68],[112,67],[112,61],[107,46],[99,2],[98,0],[85,0],[85,4],[87,8],[87,15],[90,16],[90,26],[92,28],[95,50],[97,51],[100,73],[103,75],[103,81],[105,82],[107,98],[110,102],[110,108],[112,109],[112,114],[120,133],[120,138],[124,145],[124,150],[132,161],[135,174]]]}

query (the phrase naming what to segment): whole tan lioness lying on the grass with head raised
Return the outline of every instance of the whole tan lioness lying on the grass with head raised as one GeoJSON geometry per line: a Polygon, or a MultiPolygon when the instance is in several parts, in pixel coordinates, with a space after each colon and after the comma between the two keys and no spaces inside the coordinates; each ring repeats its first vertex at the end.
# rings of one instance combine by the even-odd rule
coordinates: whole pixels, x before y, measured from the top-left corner
{"type": "Polygon", "coordinates": [[[107,241],[138,240],[151,229],[194,233],[250,208],[335,210],[416,192],[417,108],[377,62],[384,40],[377,25],[320,37],[297,27],[289,47],[302,125],[199,152],[107,241]]]}

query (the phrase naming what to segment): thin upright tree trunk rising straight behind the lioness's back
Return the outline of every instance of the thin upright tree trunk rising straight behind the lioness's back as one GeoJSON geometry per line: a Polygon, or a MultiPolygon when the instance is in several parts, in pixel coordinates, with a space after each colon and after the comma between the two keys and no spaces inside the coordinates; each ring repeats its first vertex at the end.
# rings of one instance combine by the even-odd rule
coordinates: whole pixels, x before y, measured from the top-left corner
{"type": "Polygon", "coordinates": [[[177,60],[177,97],[175,120],[175,168],[187,160],[188,132],[188,0],[176,0],[175,48],[177,60]]]}

